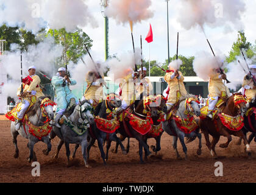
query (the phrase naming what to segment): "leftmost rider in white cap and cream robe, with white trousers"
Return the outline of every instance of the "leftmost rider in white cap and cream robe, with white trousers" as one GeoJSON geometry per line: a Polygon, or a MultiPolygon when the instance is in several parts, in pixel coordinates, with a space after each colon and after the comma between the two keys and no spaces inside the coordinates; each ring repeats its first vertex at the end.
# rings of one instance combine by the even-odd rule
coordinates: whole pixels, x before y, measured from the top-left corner
{"type": "Polygon", "coordinates": [[[41,96],[44,96],[41,88],[40,88],[40,77],[35,74],[35,66],[29,67],[29,76],[23,79],[23,93],[21,92],[21,87],[18,88],[17,96],[21,96],[21,98],[24,98],[21,104],[21,110],[17,111],[17,118],[18,120],[15,123],[15,129],[20,129],[21,122],[23,120],[23,116],[25,115],[27,108],[29,108],[29,105],[31,103],[30,96],[35,96],[36,98],[39,98],[41,96]]]}

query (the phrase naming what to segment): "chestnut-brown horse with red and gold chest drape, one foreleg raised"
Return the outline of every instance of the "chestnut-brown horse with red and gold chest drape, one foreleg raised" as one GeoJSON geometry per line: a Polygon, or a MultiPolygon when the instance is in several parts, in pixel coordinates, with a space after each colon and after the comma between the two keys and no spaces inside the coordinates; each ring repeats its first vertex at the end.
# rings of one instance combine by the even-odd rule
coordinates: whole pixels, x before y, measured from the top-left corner
{"type": "Polygon", "coordinates": [[[243,115],[246,111],[246,99],[244,99],[241,93],[235,93],[227,99],[226,105],[223,105],[222,110],[217,111],[213,119],[200,117],[199,127],[204,133],[206,145],[213,158],[218,158],[215,146],[219,138],[221,136],[227,137],[227,142],[219,145],[219,147],[224,148],[229,146],[230,141],[232,141],[231,135],[242,138],[247,154],[251,155],[251,149],[242,131],[243,115]],[[210,143],[209,134],[213,137],[212,143],[210,143]]]}

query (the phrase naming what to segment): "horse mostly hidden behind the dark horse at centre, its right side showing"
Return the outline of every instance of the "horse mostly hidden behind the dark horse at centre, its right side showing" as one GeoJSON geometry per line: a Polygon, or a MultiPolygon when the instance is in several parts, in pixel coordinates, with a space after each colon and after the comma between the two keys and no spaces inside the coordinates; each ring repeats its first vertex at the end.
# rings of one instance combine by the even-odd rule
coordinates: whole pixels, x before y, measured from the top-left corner
{"type": "MultiPolygon", "coordinates": [[[[158,102],[157,104],[155,102],[151,103],[151,106],[153,106],[153,104],[155,104],[154,106],[157,107],[157,116],[152,116],[152,127],[151,130],[146,133],[146,138],[144,138],[143,140],[145,140],[145,143],[147,143],[147,139],[149,138],[154,138],[155,139],[155,146],[151,146],[152,151],[155,152],[155,155],[157,155],[157,152],[161,150],[161,146],[160,146],[160,140],[161,140],[161,136],[163,134],[163,130],[162,130],[162,120],[164,117],[164,113],[167,112],[167,106],[166,106],[166,98],[161,94],[161,98],[158,99],[158,101],[160,100],[160,102],[158,102]]],[[[138,102],[137,102],[138,104],[138,102]]],[[[119,136],[121,141],[124,141],[126,139],[126,137],[124,137],[123,135],[119,136]]],[[[116,143],[116,147],[115,150],[113,151],[115,154],[118,152],[118,146],[119,144],[116,143]]],[[[127,137],[127,146],[126,146],[126,152],[129,152],[129,147],[130,147],[130,138],[127,137]]],[[[144,160],[147,160],[147,156],[146,156],[146,150],[144,150],[145,155],[144,155],[144,160]]]]}

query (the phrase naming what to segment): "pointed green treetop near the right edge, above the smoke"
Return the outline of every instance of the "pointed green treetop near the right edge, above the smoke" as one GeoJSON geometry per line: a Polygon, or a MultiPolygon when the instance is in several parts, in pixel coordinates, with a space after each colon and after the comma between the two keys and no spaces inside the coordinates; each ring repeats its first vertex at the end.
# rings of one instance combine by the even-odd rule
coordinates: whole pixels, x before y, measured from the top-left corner
{"type": "Polygon", "coordinates": [[[236,56],[241,55],[240,49],[245,49],[246,55],[250,59],[255,55],[255,46],[253,47],[251,43],[246,41],[244,32],[238,31],[238,38],[233,43],[232,49],[229,52],[229,56],[226,58],[226,61],[228,63],[235,61],[236,56]]]}

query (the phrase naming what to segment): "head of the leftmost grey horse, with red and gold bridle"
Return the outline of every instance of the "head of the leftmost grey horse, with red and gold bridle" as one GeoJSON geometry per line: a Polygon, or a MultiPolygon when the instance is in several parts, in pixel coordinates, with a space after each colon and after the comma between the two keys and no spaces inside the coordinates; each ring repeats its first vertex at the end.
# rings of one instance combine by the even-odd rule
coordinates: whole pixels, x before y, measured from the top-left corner
{"type": "Polygon", "coordinates": [[[51,96],[41,96],[38,98],[37,103],[34,105],[34,109],[38,107],[41,108],[41,114],[43,117],[49,118],[51,120],[54,119],[54,111],[53,106],[55,102],[51,101],[51,96]]]}

